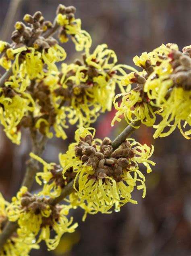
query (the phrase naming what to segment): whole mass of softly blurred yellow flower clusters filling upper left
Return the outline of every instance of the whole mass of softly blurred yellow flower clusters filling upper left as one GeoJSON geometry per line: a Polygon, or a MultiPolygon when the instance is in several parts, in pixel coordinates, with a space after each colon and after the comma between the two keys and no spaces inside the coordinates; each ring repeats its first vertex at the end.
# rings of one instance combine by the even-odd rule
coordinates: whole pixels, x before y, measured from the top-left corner
{"type": "Polygon", "coordinates": [[[8,64],[4,67],[12,69],[12,75],[0,88],[0,121],[14,143],[20,143],[22,127],[37,129],[48,138],[53,136],[53,127],[57,137],[66,139],[67,121],[89,126],[100,112],[111,110],[116,84],[124,91],[124,69],[136,71],[116,65],[116,54],[106,44],[90,53],[91,38],[81,30],[81,21],[75,19],[74,13],[75,7],[59,5],[54,24],[45,21],[40,12],[27,14],[27,25],[15,24],[12,44],[0,42],[0,63],[5,59],[8,64]],[[69,65],[62,62],[66,52],[51,36],[57,27],[62,42],[71,35],[76,50],[85,50],[83,61],[76,59],[69,65]],[[58,71],[56,63],[60,61],[62,69],[58,71]],[[8,97],[4,93],[7,90],[14,91],[15,97],[8,97]]]}

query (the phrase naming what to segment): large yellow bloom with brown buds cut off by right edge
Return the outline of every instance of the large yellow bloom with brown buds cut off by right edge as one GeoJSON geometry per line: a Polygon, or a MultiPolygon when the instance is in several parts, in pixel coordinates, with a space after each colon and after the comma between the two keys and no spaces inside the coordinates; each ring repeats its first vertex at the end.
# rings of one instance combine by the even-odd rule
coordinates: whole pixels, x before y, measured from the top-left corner
{"type": "Polygon", "coordinates": [[[163,54],[163,58],[144,86],[151,104],[162,109],[162,121],[154,126],[157,129],[154,138],[168,136],[176,127],[187,139],[191,134],[191,130],[184,132],[181,127],[181,122],[185,122],[184,128],[191,125],[191,58],[186,53],[189,47],[184,49],[181,53],[176,45],[167,44],[154,50],[163,54]],[[168,131],[164,131],[166,127],[170,127],[168,131]]]}

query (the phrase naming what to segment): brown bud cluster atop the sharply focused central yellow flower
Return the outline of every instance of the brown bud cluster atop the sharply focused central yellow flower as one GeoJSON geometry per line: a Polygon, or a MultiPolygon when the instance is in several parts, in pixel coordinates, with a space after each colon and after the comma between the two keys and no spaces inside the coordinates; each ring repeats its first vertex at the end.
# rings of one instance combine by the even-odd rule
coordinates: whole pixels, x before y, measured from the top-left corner
{"type": "Polygon", "coordinates": [[[112,177],[116,182],[122,180],[123,169],[126,171],[137,166],[132,160],[135,156],[130,149],[130,143],[125,141],[119,148],[113,151],[110,145],[111,141],[105,138],[100,144],[100,150],[97,150],[95,142],[91,135],[87,135],[76,146],[75,154],[86,165],[93,168],[94,173],[89,175],[89,179],[104,179],[107,176],[112,177]]]}

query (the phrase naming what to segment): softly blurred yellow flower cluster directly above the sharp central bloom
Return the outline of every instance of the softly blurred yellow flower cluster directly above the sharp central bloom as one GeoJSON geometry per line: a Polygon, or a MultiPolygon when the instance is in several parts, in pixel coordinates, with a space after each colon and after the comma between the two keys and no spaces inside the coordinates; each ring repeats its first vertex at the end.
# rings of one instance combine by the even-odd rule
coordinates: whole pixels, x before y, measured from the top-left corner
{"type": "Polygon", "coordinates": [[[83,62],[77,59],[75,64],[62,65],[60,79],[54,77],[54,106],[66,112],[71,124],[87,127],[100,112],[111,110],[116,84],[125,74],[122,68],[130,68],[116,61],[114,51],[101,44],[92,54],[84,54],[83,62]]]}

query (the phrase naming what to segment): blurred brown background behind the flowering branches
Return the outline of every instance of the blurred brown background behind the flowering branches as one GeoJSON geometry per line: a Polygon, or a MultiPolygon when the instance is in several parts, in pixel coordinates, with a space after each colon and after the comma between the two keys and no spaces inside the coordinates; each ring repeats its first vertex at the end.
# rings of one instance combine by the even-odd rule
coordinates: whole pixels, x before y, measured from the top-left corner
{"type": "MultiPolygon", "coordinates": [[[[118,63],[134,65],[132,58],[151,51],[162,43],[176,43],[181,50],[191,44],[190,0],[23,0],[9,26],[5,20],[10,0],[0,0],[0,39],[10,41],[15,21],[26,13],[42,11],[53,21],[58,4],[77,8],[76,18],[81,18],[82,28],[93,39],[92,49],[101,43],[108,44],[118,56],[118,63]],[[3,26],[6,22],[7,26],[3,26]]],[[[10,14],[11,15],[11,14],[10,14]]],[[[12,17],[10,17],[12,19],[12,17]]],[[[81,53],[75,53],[72,42],[64,44],[70,63],[81,53]]],[[[0,72],[3,72],[0,70],[0,72]]],[[[110,122],[115,111],[101,114],[96,127],[96,137],[114,139],[126,122],[110,122]]],[[[46,161],[58,163],[58,153],[65,152],[73,142],[76,127],[66,131],[68,139],[54,138],[44,152],[46,161]]],[[[152,160],[156,162],[152,173],[146,176],[147,193],[134,191],[137,205],[128,203],[121,211],[112,214],[89,215],[81,221],[83,211],[75,210],[79,222],[77,232],[66,234],[58,248],[47,252],[33,250],[31,256],[189,256],[191,255],[191,150],[188,140],[179,130],[167,138],[154,140],[153,129],[141,126],[132,137],[140,143],[153,144],[152,160]]],[[[30,152],[27,131],[23,131],[20,146],[12,144],[0,127],[0,191],[10,200],[19,189],[25,172],[25,161],[30,152]]],[[[144,169],[143,169],[144,172],[144,169]]],[[[37,189],[34,184],[33,190],[37,189]]]]}

